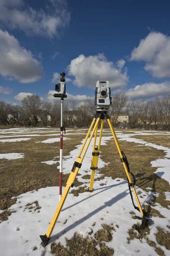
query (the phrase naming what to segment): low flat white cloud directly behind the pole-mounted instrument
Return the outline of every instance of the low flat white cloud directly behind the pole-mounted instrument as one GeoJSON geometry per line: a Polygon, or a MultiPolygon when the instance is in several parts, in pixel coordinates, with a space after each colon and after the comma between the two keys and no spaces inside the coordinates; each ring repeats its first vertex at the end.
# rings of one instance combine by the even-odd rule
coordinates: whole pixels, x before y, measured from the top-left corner
{"type": "MultiPolygon", "coordinates": [[[[49,90],[48,94],[46,95],[46,99],[48,99],[49,101],[51,102],[56,102],[56,98],[54,98],[54,93],[56,93],[55,90],[49,90]]],[[[86,95],[72,95],[70,93],[66,93],[67,94],[67,99],[66,101],[67,102],[70,102],[70,101],[85,101],[87,99],[92,99],[94,97],[90,97],[90,96],[86,96],[86,95]]]]}

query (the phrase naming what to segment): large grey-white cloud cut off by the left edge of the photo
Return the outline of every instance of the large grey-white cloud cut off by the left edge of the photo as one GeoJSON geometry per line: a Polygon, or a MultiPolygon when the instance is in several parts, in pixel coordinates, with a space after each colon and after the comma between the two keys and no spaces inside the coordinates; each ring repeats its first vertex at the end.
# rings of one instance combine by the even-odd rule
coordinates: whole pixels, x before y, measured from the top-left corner
{"type": "Polygon", "coordinates": [[[42,75],[40,63],[30,51],[21,47],[13,35],[0,29],[0,74],[21,83],[33,83],[42,75]]]}

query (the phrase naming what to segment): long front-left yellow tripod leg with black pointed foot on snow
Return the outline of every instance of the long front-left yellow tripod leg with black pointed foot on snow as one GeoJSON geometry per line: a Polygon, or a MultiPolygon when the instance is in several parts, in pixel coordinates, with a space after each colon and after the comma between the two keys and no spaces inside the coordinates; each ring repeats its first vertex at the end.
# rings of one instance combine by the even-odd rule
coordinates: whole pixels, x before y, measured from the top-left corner
{"type": "MultiPolygon", "coordinates": [[[[83,151],[83,154],[82,154],[82,157],[80,157],[81,154],[79,154],[79,157],[77,157],[77,158],[76,158],[76,161],[74,162],[73,168],[72,168],[72,170],[71,170],[71,173],[70,173],[70,175],[69,175],[69,177],[68,177],[68,180],[67,180],[67,183],[66,183],[65,190],[64,190],[64,192],[63,192],[63,194],[62,194],[62,197],[61,197],[61,199],[60,199],[60,201],[59,201],[59,204],[58,204],[58,206],[57,206],[57,209],[56,209],[56,211],[55,211],[55,213],[54,213],[54,216],[53,216],[53,218],[52,218],[52,220],[51,220],[51,223],[50,223],[50,225],[49,225],[49,227],[48,227],[48,230],[47,230],[47,232],[46,232],[45,235],[40,236],[40,238],[41,238],[41,240],[42,240],[42,245],[43,245],[44,247],[47,245],[47,243],[48,243],[48,241],[49,241],[49,239],[50,239],[50,237],[51,237],[51,233],[53,232],[53,229],[54,229],[54,227],[55,227],[56,221],[57,221],[57,219],[58,219],[58,217],[59,217],[59,213],[61,212],[62,207],[63,207],[64,202],[65,202],[65,199],[66,199],[66,197],[67,197],[67,195],[68,195],[68,192],[69,192],[70,188],[73,187],[74,180],[75,180],[75,178],[76,178],[76,176],[77,176],[77,173],[78,173],[80,167],[82,166],[82,161],[83,161],[83,159],[84,159],[84,157],[85,157],[85,154],[86,154],[86,152],[87,152],[87,150],[88,150],[88,146],[89,146],[90,143],[91,143],[91,139],[92,139],[92,137],[93,137],[93,135],[94,135],[94,132],[96,131],[96,127],[98,126],[98,123],[99,123],[99,120],[100,120],[100,116],[99,116],[97,119],[94,118],[93,121],[92,121],[92,124],[94,124],[95,120],[96,120],[96,123],[95,123],[95,125],[94,125],[94,128],[93,128],[93,130],[92,130],[92,133],[91,133],[89,139],[88,139],[87,136],[86,136],[86,138],[85,138],[85,141],[86,141],[86,142],[87,142],[87,140],[88,140],[88,143],[87,143],[86,147],[85,147],[85,143],[83,143],[82,148],[80,149],[80,151],[82,152],[83,149],[84,149],[84,147],[85,147],[85,149],[84,149],[84,151],[83,151]]],[[[92,127],[93,127],[93,125],[91,125],[91,127],[89,128],[88,134],[90,134],[92,127]]]]}

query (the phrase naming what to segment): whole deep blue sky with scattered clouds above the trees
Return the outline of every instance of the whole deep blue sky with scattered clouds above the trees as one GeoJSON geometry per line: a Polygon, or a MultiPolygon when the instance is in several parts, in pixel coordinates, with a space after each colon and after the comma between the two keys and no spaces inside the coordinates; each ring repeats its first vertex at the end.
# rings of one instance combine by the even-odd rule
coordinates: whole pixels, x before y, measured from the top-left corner
{"type": "Polygon", "coordinates": [[[68,101],[92,97],[99,79],[129,99],[167,95],[169,9],[169,1],[0,0],[0,100],[54,101],[61,71],[68,101]]]}

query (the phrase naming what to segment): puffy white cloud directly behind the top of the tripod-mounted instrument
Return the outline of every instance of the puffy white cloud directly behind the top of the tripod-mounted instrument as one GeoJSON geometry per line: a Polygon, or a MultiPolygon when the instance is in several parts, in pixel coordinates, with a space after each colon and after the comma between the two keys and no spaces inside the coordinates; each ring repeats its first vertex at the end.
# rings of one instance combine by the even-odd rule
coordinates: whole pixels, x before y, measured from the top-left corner
{"type": "Polygon", "coordinates": [[[125,62],[121,60],[118,62],[118,67],[113,62],[109,62],[104,54],[88,57],[81,54],[71,61],[68,72],[70,76],[74,76],[74,84],[78,87],[94,88],[97,80],[108,80],[112,88],[123,89],[128,82],[126,69],[124,72],[121,70],[124,64],[125,62]]]}

